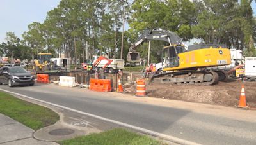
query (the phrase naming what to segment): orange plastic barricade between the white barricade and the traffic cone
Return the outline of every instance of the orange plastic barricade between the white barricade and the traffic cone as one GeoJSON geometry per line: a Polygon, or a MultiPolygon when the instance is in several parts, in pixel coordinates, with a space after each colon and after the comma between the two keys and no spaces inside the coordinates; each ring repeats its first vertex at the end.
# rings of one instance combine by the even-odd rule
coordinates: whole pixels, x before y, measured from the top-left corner
{"type": "Polygon", "coordinates": [[[90,79],[90,90],[98,92],[111,92],[110,79],[90,79]]]}

